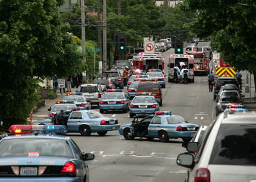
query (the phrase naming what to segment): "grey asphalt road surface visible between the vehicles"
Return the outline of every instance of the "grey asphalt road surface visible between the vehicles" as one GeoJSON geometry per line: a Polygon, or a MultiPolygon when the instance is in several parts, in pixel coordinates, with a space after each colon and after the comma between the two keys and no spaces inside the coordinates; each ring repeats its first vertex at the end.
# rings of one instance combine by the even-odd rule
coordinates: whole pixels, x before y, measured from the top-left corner
{"type": "MultiPolygon", "coordinates": [[[[173,50],[164,53],[165,74],[167,75],[168,56],[173,50]]],[[[124,88],[127,91],[127,88],[124,88]]],[[[207,76],[196,76],[193,84],[166,83],[163,88],[163,106],[160,110],[171,111],[183,116],[190,123],[208,125],[216,119],[214,115],[213,92],[208,92],[207,76]]],[[[97,107],[93,110],[99,111],[97,107]]],[[[115,117],[120,124],[131,123],[129,113],[110,112],[104,116],[115,117]]],[[[68,134],[76,141],[83,152],[95,154],[88,161],[90,181],[184,181],[186,168],[176,164],[177,155],[186,152],[182,139],[170,139],[161,143],[158,139],[147,141],[135,139],[126,141],[118,131],[106,136],[92,133],[82,137],[80,133],[68,134]]]]}

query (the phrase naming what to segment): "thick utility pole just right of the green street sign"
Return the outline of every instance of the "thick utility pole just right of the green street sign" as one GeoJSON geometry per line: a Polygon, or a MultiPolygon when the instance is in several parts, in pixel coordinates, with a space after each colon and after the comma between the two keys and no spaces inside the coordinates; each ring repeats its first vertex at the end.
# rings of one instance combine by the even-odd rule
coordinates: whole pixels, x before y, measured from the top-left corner
{"type": "Polygon", "coordinates": [[[103,0],[103,70],[107,69],[107,2],[103,0]]]}

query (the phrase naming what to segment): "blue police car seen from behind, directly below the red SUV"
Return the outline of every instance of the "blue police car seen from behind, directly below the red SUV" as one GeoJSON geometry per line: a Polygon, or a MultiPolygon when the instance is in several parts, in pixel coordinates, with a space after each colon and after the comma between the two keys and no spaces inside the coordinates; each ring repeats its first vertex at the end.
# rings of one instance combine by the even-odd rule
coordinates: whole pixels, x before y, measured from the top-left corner
{"type": "Polygon", "coordinates": [[[159,104],[151,92],[139,92],[130,104],[129,116],[136,114],[154,114],[159,111],[159,104]]]}

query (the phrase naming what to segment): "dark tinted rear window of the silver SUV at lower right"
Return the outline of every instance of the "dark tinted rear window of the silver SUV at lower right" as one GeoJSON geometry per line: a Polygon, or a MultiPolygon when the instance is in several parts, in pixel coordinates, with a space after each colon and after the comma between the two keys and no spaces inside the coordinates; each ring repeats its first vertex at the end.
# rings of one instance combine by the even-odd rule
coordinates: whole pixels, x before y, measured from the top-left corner
{"type": "Polygon", "coordinates": [[[256,165],[256,124],[221,124],[209,164],[256,165]]]}

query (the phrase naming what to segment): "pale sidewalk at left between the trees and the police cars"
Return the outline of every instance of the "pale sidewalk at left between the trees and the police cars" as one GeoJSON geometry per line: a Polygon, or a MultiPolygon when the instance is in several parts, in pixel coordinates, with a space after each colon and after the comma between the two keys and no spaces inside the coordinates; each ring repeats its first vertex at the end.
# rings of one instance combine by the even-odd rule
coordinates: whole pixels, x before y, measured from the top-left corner
{"type": "MultiPolygon", "coordinates": [[[[79,88],[71,88],[72,92],[76,92],[76,90],[78,90],[79,88]]],[[[67,88],[65,88],[65,91],[67,91],[67,88]]],[[[63,93],[63,97],[65,96],[65,92],[63,93]]],[[[57,98],[55,99],[45,99],[45,106],[42,106],[41,108],[38,109],[38,111],[34,111],[33,112],[33,116],[32,116],[32,123],[38,120],[42,120],[42,119],[48,119],[48,108],[54,106],[55,102],[57,100],[61,100],[61,92],[60,89],[57,90],[57,98]],[[45,114],[47,113],[47,114],[45,114]]],[[[27,120],[30,121],[30,117],[27,118],[27,120]]]]}

